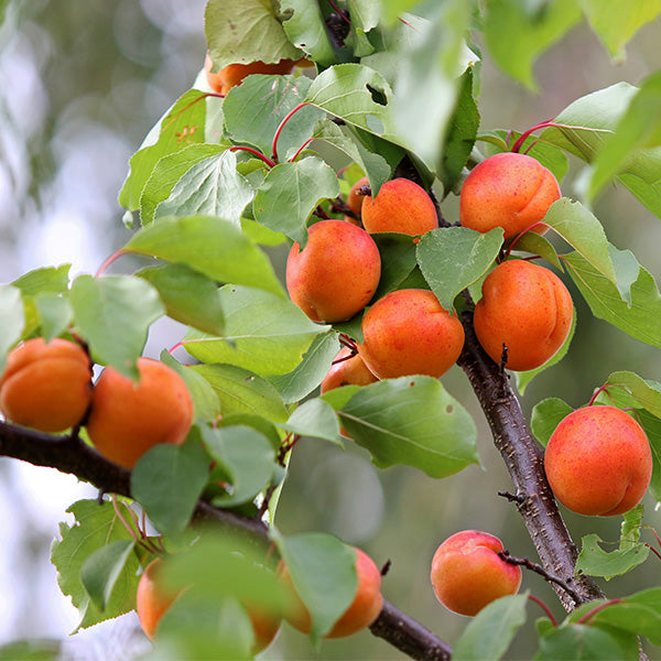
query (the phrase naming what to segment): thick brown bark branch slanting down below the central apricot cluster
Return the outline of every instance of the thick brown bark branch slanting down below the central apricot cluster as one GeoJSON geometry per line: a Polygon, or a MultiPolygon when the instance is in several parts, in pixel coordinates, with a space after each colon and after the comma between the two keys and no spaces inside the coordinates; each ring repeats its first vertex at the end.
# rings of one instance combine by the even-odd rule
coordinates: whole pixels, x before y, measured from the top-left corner
{"type": "MultiPolygon", "coordinates": [[[[519,401],[500,369],[484,351],[473,328],[473,313],[465,312],[462,323],[466,344],[457,364],[466,372],[473,390],[491,429],[494,443],[500,452],[516,487],[510,499],[523,518],[542,566],[570,586],[581,603],[604,598],[604,593],[588,576],[574,575],[578,552],[562,519],[557,503],[546,481],[544,457],[534,442],[519,401]]],[[[553,584],[567,611],[575,608],[574,598],[553,584]]]]}

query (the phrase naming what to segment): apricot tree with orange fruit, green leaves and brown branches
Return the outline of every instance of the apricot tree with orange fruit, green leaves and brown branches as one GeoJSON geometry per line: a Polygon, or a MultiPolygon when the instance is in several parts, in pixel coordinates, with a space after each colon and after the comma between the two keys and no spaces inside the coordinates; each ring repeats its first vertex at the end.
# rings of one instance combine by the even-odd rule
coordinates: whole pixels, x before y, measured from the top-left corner
{"type": "MultiPolygon", "coordinates": [[[[119,193],[123,247],[95,275],[44,267],[0,288],[0,453],[100,492],[71,507],[76,522],[62,524],[51,557],[80,627],[130,611],[149,593],[161,595],[155,610],[139,608],[160,659],[249,659],[282,618],[313,646],[369,627],[425,660],[501,659],[524,626],[535,629],[539,660],[633,660],[661,644],[661,587],[606,594],[595,581],[629,572],[650,551],[650,562],[661,557],[653,513],[643,524],[639,505],[646,491],[661,499],[661,384],[619,370],[585,395],[593,412],[607,404],[636,424],[637,460],[625,443],[602,443],[608,422],[578,434],[589,435],[592,454],[626,455],[602,463],[606,486],[642,475],[626,508],[593,502],[599,462],[586,480],[572,443],[553,458],[560,484],[588,489],[590,511],[624,516],[608,551],[593,534],[578,553],[544,472],[544,447],[573,408],[543,400],[529,424],[519,401],[581,334],[560,278],[594,316],[661,347],[653,277],[609,242],[592,209],[616,181],[631,204],[661,217],[661,75],[595,90],[520,132],[480,127],[478,111],[485,59],[533,87],[537,56],[579,21],[617,56],[659,14],[657,0],[208,1],[207,65],[130,160],[119,193]],[[514,171],[496,173],[495,163],[514,171]],[[462,214],[470,207],[492,223],[459,221],[453,201],[464,181],[462,214]],[[557,182],[579,199],[557,198],[557,182]],[[273,261],[288,252],[289,295],[273,261]],[[149,266],[108,275],[127,254],[149,266]],[[533,284],[517,289],[528,272],[533,284]],[[483,283],[478,310],[489,316],[476,335],[483,283]],[[177,346],[189,359],[163,347],[167,377],[148,379],[145,338],[164,315],[185,325],[177,346]],[[78,357],[51,367],[35,353],[15,376],[15,356],[44,340],[55,354],[66,342],[78,357]],[[355,358],[362,362],[330,383],[355,358]],[[278,506],[303,436],[340,445],[342,430],[379,468],[405,465],[435,479],[478,464],[475,421],[440,380],[455,362],[511,476],[500,506],[516,507],[539,557],[489,542],[486,570],[464,570],[468,549],[494,539],[467,521],[465,551],[452,557],[452,602],[469,602],[475,619],[445,641],[383,598],[387,565],[375,572],[364,551],[327,533],[284,533],[278,506]],[[90,387],[90,365],[109,377],[90,387]],[[56,398],[74,392],[71,371],[84,375],[82,407],[67,403],[78,412],[53,435],[59,423],[40,425],[23,409],[43,390],[36,412],[57,411],[56,398]],[[117,394],[105,386],[110,377],[117,394]],[[102,455],[93,445],[99,426],[102,455]],[[164,442],[148,441],[152,430],[164,442]],[[544,604],[537,628],[528,621],[529,602],[540,600],[511,594],[519,567],[552,585],[563,621],[544,604]],[[492,584],[498,575],[510,576],[505,589],[492,584]],[[492,596],[463,599],[462,590],[492,596]]],[[[431,556],[420,571],[430,575],[431,556]]],[[[440,585],[436,570],[432,578],[440,585]]]]}

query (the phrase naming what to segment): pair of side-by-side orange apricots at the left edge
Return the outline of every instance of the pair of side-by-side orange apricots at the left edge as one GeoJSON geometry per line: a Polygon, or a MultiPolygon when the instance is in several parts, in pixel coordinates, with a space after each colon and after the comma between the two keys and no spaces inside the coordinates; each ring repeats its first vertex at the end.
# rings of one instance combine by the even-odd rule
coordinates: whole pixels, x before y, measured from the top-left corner
{"type": "Polygon", "coordinates": [[[68,339],[30,339],[10,351],[0,379],[0,411],[42,432],[85,424],[108,459],[132,468],[156,443],[181,444],[193,424],[193,400],[170,367],[138,359],[133,381],[106,367],[93,384],[87,351],[68,339]]]}

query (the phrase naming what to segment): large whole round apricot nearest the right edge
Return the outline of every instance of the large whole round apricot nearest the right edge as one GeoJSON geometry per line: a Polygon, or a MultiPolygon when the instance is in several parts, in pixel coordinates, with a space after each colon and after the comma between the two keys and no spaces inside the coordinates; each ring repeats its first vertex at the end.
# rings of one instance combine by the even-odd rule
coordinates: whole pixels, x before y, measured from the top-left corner
{"type": "Polygon", "coordinates": [[[555,498],[579,514],[613,517],[636,507],[650,484],[652,453],[642,427],[615,407],[570,413],[544,453],[555,498]]]}

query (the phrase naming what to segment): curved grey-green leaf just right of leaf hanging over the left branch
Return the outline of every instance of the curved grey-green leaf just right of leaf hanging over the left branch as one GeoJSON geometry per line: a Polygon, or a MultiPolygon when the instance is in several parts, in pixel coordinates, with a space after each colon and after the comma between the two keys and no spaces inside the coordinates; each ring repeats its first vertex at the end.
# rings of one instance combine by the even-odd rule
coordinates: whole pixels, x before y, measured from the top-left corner
{"type": "Polygon", "coordinates": [[[213,499],[216,507],[251,501],[269,486],[275,472],[275,451],[269,438],[246,425],[205,429],[204,442],[212,458],[230,476],[231,492],[213,499]]]}

